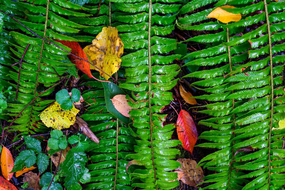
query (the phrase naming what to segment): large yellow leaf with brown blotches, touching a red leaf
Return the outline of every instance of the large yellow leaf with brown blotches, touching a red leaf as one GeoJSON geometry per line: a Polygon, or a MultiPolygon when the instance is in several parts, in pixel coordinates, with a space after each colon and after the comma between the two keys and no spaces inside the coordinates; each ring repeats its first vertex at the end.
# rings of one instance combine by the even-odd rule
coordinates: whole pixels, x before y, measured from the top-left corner
{"type": "MultiPolygon", "coordinates": [[[[86,46],[83,51],[86,53],[89,62],[107,73],[112,75],[120,68],[123,55],[124,44],[118,35],[118,30],[114,27],[103,27],[90,46],[86,46]]],[[[109,76],[90,65],[90,69],[100,72],[105,79],[109,76]]]]}

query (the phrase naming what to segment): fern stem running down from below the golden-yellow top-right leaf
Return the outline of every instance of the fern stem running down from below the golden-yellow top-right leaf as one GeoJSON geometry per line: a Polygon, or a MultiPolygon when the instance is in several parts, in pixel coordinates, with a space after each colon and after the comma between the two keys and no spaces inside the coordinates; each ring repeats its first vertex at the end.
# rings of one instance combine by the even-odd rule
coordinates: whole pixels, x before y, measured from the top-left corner
{"type": "MultiPolygon", "coordinates": [[[[227,28],[227,42],[230,41],[230,34],[229,34],[229,28],[227,28]]],[[[228,46],[228,55],[229,55],[229,65],[230,65],[230,71],[233,71],[233,65],[231,62],[231,47],[228,46]]],[[[233,82],[232,82],[233,85],[233,82]]],[[[234,91],[232,91],[232,93],[234,93],[234,91]]],[[[235,109],[235,99],[232,99],[233,101],[233,109],[235,109]]],[[[233,114],[233,131],[235,130],[235,114],[233,114]]],[[[235,132],[233,132],[232,134],[232,138],[235,138],[235,132]]],[[[235,140],[233,140],[233,145],[235,144],[235,140]]],[[[231,166],[230,166],[230,170],[229,170],[229,180],[228,180],[228,190],[230,188],[230,182],[231,182],[231,170],[233,169],[233,160],[234,160],[234,148],[232,149],[232,157],[231,157],[231,166]]]]}

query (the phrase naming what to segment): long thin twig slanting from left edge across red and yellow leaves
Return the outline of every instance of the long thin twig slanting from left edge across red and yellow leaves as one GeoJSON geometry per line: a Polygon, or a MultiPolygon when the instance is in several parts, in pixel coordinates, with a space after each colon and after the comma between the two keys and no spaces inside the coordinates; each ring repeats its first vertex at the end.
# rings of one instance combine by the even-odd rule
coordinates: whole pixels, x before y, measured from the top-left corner
{"type": "MultiPolygon", "coordinates": [[[[4,13],[5,15],[8,15],[9,17],[11,17],[13,20],[15,20],[17,23],[21,24],[21,26],[23,26],[24,28],[26,28],[29,32],[31,32],[32,34],[34,34],[34,35],[37,36],[38,38],[40,38],[40,39],[42,39],[42,40],[44,40],[44,41],[46,41],[46,42],[48,42],[48,43],[50,43],[50,44],[56,46],[57,48],[63,50],[63,51],[66,52],[66,53],[69,53],[70,55],[72,55],[72,56],[74,56],[74,57],[76,57],[76,58],[78,58],[78,59],[81,59],[81,60],[83,60],[83,61],[86,61],[86,62],[89,63],[90,65],[94,66],[94,67],[97,68],[98,70],[100,70],[100,71],[102,71],[103,73],[105,73],[105,75],[109,76],[111,79],[116,80],[116,79],[114,79],[113,77],[111,77],[110,75],[108,75],[105,71],[101,70],[101,69],[98,68],[97,66],[93,65],[92,63],[90,63],[88,60],[85,60],[85,59],[83,59],[83,58],[81,58],[81,57],[78,57],[78,56],[72,54],[71,52],[66,51],[65,49],[61,48],[60,46],[56,45],[55,43],[53,43],[53,42],[51,42],[51,41],[49,41],[49,40],[46,40],[46,39],[42,38],[42,37],[39,36],[37,33],[35,33],[35,32],[33,32],[32,30],[30,30],[27,26],[25,26],[24,24],[22,24],[20,21],[18,21],[17,19],[15,19],[14,17],[12,17],[10,14],[6,13],[5,11],[3,11],[3,10],[0,9],[0,12],[2,12],[2,13],[4,13]]],[[[96,79],[96,78],[94,77],[94,79],[96,79]]],[[[96,79],[96,80],[101,81],[101,80],[99,80],[99,79],[96,79]]],[[[117,80],[116,80],[116,81],[117,81],[117,80]]],[[[108,82],[108,83],[110,83],[110,81],[103,81],[103,82],[108,82]]],[[[117,81],[117,82],[119,83],[119,81],[117,81]]]]}

